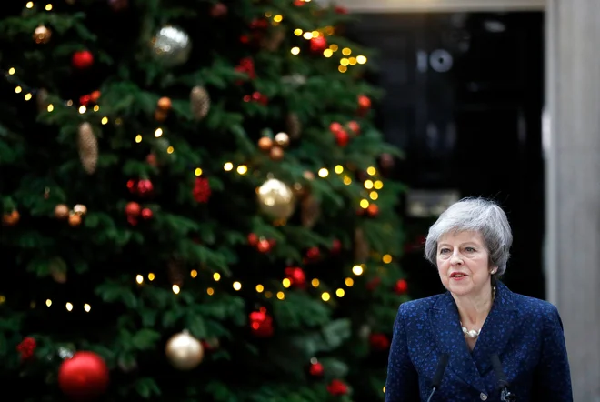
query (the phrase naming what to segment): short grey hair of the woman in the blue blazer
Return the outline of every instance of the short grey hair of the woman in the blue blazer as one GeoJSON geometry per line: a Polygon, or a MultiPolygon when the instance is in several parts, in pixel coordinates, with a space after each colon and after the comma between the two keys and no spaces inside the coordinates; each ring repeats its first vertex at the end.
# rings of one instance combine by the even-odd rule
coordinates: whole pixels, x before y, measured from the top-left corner
{"type": "Polygon", "coordinates": [[[503,276],[513,244],[513,234],[505,211],[494,201],[485,198],[464,198],[437,218],[429,228],[425,240],[425,258],[436,265],[437,243],[447,233],[474,231],[484,237],[484,245],[489,255],[490,265],[498,270],[492,282],[503,276]]]}

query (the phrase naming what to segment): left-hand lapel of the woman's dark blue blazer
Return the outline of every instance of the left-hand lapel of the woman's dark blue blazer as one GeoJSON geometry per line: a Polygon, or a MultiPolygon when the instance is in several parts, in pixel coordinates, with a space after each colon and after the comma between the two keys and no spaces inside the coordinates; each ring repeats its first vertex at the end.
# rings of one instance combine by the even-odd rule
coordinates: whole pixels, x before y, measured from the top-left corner
{"type": "Polygon", "coordinates": [[[450,357],[448,369],[471,387],[484,392],[484,381],[466,345],[458,310],[450,292],[441,295],[435,303],[430,312],[430,325],[438,349],[450,357]]]}

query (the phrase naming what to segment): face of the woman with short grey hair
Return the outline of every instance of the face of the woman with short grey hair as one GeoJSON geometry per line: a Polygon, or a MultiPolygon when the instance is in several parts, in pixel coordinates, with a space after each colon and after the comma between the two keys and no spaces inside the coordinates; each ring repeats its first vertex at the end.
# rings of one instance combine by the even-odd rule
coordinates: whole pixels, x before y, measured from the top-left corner
{"type": "Polygon", "coordinates": [[[437,243],[437,270],[446,289],[456,296],[476,296],[490,286],[489,256],[477,232],[448,233],[437,243]]]}

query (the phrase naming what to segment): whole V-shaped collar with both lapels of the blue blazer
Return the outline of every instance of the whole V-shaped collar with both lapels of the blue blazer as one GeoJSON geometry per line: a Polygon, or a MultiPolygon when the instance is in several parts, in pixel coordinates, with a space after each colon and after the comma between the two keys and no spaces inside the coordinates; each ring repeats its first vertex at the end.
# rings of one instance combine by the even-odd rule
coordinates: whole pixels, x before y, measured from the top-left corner
{"type": "Polygon", "coordinates": [[[450,292],[441,295],[431,310],[431,327],[437,347],[450,357],[448,367],[465,383],[485,392],[483,377],[492,368],[490,357],[501,355],[515,329],[515,296],[503,283],[496,283],[494,304],[473,351],[465,342],[455,299],[450,292]]]}

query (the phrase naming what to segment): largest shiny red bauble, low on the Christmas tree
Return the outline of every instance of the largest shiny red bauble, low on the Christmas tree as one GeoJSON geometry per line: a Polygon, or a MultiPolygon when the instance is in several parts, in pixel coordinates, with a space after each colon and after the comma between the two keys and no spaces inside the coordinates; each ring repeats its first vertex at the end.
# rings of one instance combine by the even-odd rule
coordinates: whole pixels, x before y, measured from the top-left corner
{"type": "Polygon", "coordinates": [[[108,367],[104,359],[93,352],[77,352],[65,359],[58,369],[58,385],[72,400],[95,399],[108,387],[108,367]]]}

